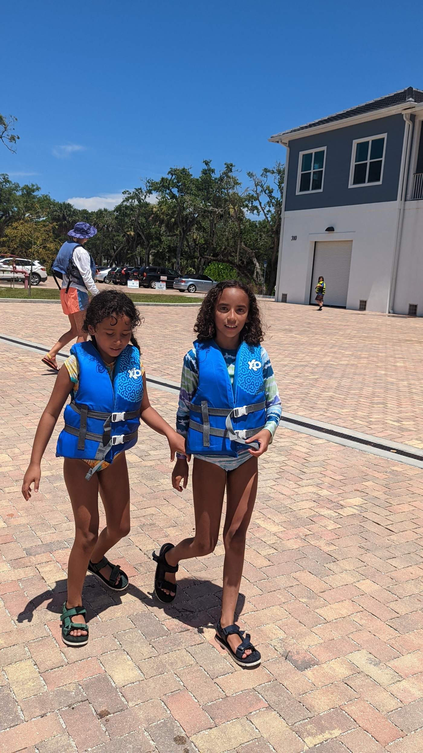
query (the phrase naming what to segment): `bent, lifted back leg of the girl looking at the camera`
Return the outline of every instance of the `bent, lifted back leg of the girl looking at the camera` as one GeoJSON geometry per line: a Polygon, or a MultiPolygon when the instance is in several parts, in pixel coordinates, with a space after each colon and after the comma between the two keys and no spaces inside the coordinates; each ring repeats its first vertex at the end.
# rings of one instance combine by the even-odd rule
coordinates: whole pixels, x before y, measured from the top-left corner
{"type": "MultiPolygon", "coordinates": [[[[219,539],[226,473],[207,460],[194,458],[192,466],[192,494],[194,497],[195,536],[184,538],[166,552],[166,561],[175,566],[181,559],[204,557],[213,552],[219,539]]],[[[175,573],[166,573],[166,580],[176,583],[175,573]]],[[[165,593],[174,593],[165,590],[165,593]]]]}

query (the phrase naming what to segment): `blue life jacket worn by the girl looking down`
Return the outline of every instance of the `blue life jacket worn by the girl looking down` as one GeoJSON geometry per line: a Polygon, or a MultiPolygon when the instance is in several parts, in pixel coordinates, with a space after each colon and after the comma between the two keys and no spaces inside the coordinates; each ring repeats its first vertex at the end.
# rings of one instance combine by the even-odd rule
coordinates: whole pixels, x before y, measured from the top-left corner
{"type": "Polygon", "coordinates": [[[98,350],[91,342],[71,347],[78,361],[79,386],[65,407],[65,428],[59,434],[56,457],[98,460],[92,474],[105,460],[134,447],[140,425],[143,378],[140,352],[127,345],[119,354],[113,384],[98,350]]]}

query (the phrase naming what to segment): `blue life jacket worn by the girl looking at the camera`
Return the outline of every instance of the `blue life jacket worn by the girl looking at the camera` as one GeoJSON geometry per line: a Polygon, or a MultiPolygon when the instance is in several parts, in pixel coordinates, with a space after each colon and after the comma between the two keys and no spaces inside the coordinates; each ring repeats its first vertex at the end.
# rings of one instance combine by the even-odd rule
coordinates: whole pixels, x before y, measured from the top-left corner
{"type": "Polygon", "coordinates": [[[261,347],[241,343],[235,361],[234,384],[225,358],[214,340],[195,340],[198,386],[189,410],[187,450],[192,455],[237,457],[266,423],[261,347]]]}

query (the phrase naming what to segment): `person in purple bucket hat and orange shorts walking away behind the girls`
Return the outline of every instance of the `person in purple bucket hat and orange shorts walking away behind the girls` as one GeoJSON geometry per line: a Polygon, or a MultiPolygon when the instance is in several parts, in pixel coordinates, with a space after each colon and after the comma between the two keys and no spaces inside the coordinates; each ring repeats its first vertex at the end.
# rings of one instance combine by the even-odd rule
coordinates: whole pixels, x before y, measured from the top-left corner
{"type": "Polygon", "coordinates": [[[63,243],[53,261],[53,277],[60,288],[62,310],[71,324],[71,329],[62,334],[56,345],[44,355],[44,358],[41,358],[44,364],[55,371],[59,371],[56,361],[59,350],[75,337],[77,337],[77,343],[82,343],[88,337],[82,331],[85,311],[89,303],[88,294],[97,295],[98,288],[94,282],[95,261],[83,247],[96,233],[95,227],[88,222],[77,222],[75,227],[69,230],[69,240],[63,243]],[[59,285],[58,278],[62,280],[62,285],[59,285]]]}

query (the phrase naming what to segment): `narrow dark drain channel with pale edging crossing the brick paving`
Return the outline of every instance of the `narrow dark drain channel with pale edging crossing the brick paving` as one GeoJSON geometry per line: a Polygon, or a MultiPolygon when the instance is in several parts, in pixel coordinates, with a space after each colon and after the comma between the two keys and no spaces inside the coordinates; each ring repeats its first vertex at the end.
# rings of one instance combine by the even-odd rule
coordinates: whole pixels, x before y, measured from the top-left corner
{"type": "MultiPolygon", "coordinates": [[[[32,350],[32,352],[45,353],[46,346],[39,343],[32,343],[29,340],[22,340],[19,337],[10,337],[9,335],[0,334],[0,340],[18,348],[32,350]]],[[[68,358],[69,353],[60,351],[60,358],[68,358]]],[[[179,385],[170,380],[159,379],[159,377],[150,377],[146,375],[147,383],[156,389],[163,389],[174,395],[179,394],[179,385]]],[[[300,431],[302,434],[310,434],[313,437],[319,437],[335,444],[342,444],[344,447],[351,447],[354,450],[361,450],[365,453],[377,455],[389,460],[414,465],[417,468],[423,468],[423,451],[419,452],[415,447],[400,444],[388,440],[381,440],[380,437],[373,437],[371,434],[361,434],[359,431],[335,426],[333,424],[324,424],[319,421],[312,421],[305,416],[298,416],[295,413],[283,413],[281,425],[290,428],[293,431],[300,431]]]]}

